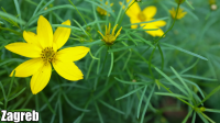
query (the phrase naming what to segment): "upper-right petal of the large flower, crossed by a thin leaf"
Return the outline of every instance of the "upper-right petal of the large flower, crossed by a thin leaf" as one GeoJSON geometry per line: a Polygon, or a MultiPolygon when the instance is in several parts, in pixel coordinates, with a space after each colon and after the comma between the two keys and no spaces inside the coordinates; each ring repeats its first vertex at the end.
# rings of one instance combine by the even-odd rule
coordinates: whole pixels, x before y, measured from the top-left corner
{"type": "MultiPolygon", "coordinates": [[[[70,25],[70,21],[67,20],[65,22],[62,23],[63,25],[70,25]]],[[[69,27],[57,27],[55,33],[54,33],[54,43],[57,46],[57,49],[59,49],[64,44],[66,44],[66,42],[69,38],[72,29],[69,27]]]]}

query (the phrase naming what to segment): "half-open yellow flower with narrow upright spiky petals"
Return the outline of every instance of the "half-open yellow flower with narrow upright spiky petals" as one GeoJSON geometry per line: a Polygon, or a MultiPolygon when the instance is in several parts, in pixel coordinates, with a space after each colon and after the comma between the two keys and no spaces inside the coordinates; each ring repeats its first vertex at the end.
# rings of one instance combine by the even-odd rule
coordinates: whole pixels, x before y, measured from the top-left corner
{"type": "Polygon", "coordinates": [[[109,29],[107,29],[107,25],[106,25],[106,34],[105,34],[105,36],[103,36],[103,34],[102,34],[101,32],[98,31],[99,34],[102,36],[102,41],[106,42],[106,44],[112,45],[113,42],[114,42],[114,41],[117,40],[117,37],[119,36],[119,34],[120,34],[122,27],[119,29],[119,31],[118,31],[117,34],[114,35],[114,32],[116,32],[116,30],[117,30],[117,26],[118,26],[118,24],[113,27],[112,34],[110,34],[110,31],[111,31],[111,23],[109,23],[109,29]]]}

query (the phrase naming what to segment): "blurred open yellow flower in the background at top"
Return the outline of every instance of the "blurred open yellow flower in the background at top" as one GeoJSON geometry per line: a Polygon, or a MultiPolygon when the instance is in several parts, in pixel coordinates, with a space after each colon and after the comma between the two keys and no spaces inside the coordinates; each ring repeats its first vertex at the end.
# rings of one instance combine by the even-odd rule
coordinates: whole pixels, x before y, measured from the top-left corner
{"type": "MultiPolygon", "coordinates": [[[[127,0],[127,2],[130,2],[129,7],[134,2],[134,0],[127,0]]],[[[120,4],[122,4],[120,2],[120,4]]],[[[141,10],[138,2],[134,2],[129,10],[127,11],[127,15],[130,18],[130,22],[133,24],[131,25],[131,29],[136,29],[138,25],[134,23],[140,22],[146,22],[146,21],[153,21],[153,16],[156,14],[156,7],[147,7],[143,11],[141,10]]],[[[145,31],[152,36],[162,36],[164,34],[163,30],[161,30],[161,26],[166,25],[165,21],[155,21],[150,23],[143,23],[140,24],[145,30],[152,30],[156,29],[156,31],[145,31]]]]}

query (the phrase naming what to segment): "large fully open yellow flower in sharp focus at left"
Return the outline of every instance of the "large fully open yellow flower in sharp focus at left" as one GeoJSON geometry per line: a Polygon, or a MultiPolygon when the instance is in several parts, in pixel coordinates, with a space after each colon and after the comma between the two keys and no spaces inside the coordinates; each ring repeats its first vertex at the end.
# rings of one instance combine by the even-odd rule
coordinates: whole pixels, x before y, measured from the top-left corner
{"type": "MultiPolygon", "coordinates": [[[[70,21],[67,20],[62,24],[70,25],[70,21]]],[[[67,42],[70,29],[57,27],[53,34],[50,22],[43,15],[40,15],[36,33],[24,31],[23,37],[26,43],[12,43],[6,46],[7,49],[15,54],[32,58],[19,65],[14,69],[14,76],[32,76],[30,86],[33,94],[38,93],[48,83],[52,65],[57,74],[67,80],[75,81],[84,78],[81,70],[73,62],[85,57],[89,48],[76,46],[57,51],[67,42]]]]}

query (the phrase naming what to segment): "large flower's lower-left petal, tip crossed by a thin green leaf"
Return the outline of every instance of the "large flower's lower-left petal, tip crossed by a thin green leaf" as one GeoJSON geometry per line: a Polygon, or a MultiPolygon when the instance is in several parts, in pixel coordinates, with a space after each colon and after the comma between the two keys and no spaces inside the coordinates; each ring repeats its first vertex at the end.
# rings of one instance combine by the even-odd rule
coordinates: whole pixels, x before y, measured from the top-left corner
{"type": "MultiPolygon", "coordinates": [[[[44,65],[42,58],[34,58],[29,59],[21,65],[19,65],[13,71],[15,70],[14,77],[29,77],[34,75],[42,66],[44,65]]],[[[10,77],[13,76],[13,71],[11,72],[10,77]]]]}

